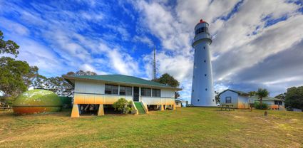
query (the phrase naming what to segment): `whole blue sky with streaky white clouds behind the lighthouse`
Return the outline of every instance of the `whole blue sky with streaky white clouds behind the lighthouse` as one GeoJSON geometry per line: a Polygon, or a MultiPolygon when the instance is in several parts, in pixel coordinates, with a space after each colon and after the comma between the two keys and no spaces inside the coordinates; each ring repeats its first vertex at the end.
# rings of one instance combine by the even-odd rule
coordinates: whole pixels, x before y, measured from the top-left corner
{"type": "MultiPolygon", "coordinates": [[[[21,46],[17,59],[48,77],[92,70],[181,82],[190,98],[195,24],[212,34],[215,90],[303,85],[302,1],[0,1],[0,30],[21,46]]],[[[4,55],[7,56],[7,55],[4,55]]]]}

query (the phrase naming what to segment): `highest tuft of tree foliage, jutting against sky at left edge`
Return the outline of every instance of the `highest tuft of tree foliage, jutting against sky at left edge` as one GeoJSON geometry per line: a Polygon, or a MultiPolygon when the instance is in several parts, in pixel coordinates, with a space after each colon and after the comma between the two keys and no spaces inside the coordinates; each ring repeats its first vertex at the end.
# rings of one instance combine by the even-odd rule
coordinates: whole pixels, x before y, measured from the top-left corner
{"type": "Polygon", "coordinates": [[[15,57],[19,54],[19,46],[11,40],[4,41],[4,36],[2,31],[0,31],[0,54],[1,53],[10,53],[13,54],[15,57]]]}

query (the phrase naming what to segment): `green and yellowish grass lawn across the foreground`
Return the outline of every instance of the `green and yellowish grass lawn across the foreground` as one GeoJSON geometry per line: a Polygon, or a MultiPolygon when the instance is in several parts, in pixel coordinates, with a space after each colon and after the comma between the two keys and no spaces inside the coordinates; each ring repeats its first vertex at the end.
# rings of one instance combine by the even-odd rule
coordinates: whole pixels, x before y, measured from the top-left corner
{"type": "Polygon", "coordinates": [[[263,114],[206,107],[80,118],[0,112],[0,147],[303,147],[303,112],[263,114]]]}

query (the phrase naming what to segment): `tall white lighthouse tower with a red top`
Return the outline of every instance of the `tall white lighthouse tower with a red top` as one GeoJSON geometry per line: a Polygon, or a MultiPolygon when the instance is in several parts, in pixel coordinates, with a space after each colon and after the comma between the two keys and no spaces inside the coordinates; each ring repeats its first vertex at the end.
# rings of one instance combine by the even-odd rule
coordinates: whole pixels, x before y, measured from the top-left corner
{"type": "Polygon", "coordinates": [[[195,59],[191,103],[194,106],[216,106],[210,60],[212,38],[210,38],[208,26],[209,24],[201,19],[195,26],[195,38],[192,41],[192,47],[195,48],[195,59]]]}

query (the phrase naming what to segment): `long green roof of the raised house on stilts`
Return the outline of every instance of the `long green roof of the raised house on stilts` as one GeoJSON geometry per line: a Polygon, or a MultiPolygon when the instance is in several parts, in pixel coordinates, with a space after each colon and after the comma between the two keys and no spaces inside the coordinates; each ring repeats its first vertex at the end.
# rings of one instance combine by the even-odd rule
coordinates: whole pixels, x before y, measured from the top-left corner
{"type": "Polygon", "coordinates": [[[164,85],[161,83],[156,83],[151,80],[144,80],[142,78],[137,78],[129,75],[63,75],[63,78],[72,83],[71,80],[101,80],[109,83],[125,83],[132,85],[146,85],[160,88],[172,88],[181,90],[180,88],[173,88],[169,85],[164,85]]]}

